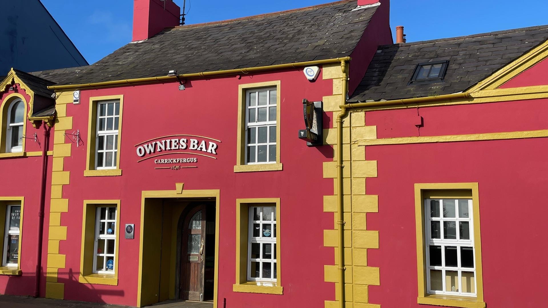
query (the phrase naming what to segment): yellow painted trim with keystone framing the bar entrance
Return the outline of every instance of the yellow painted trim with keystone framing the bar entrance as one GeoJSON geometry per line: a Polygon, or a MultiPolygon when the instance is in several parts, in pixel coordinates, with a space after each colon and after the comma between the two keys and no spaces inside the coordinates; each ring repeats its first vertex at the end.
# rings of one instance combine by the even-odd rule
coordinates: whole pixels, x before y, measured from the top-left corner
{"type": "Polygon", "coordinates": [[[138,307],[145,304],[141,300],[142,289],[142,252],[143,235],[145,222],[145,200],[147,198],[215,198],[215,274],[213,287],[213,306],[218,306],[218,288],[219,288],[219,219],[220,219],[220,191],[219,190],[178,190],[178,184],[175,184],[175,190],[156,190],[142,191],[141,193],[141,220],[139,232],[139,270],[137,281],[137,303],[138,307]]]}

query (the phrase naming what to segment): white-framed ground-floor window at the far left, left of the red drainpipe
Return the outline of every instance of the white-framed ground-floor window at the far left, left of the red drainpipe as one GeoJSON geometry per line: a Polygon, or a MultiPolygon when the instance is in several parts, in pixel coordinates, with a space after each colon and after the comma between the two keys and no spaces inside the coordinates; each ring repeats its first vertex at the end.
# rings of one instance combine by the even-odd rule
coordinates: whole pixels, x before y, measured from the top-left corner
{"type": "Polygon", "coordinates": [[[8,203],[5,213],[4,247],[2,266],[18,266],[21,204],[8,203]]]}

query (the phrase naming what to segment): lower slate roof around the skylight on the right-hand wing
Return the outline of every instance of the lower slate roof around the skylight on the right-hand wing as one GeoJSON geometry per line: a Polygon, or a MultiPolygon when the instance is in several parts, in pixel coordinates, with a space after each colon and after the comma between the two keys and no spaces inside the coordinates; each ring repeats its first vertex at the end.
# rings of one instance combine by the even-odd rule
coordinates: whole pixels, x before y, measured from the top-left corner
{"type": "Polygon", "coordinates": [[[379,46],[349,101],[463,92],[548,38],[548,25],[379,46]],[[441,82],[408,85],[417,64],[449,60],[441,82]]]}

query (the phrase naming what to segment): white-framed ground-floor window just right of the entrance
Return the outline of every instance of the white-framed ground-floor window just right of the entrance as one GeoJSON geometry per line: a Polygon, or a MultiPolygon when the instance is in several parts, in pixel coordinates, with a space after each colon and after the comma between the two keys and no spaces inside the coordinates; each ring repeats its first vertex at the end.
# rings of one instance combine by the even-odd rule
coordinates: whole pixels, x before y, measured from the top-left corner
{"type": "Polygon", "coordinates": [[[276,282],[276,207],[249,207],[248,281],[276,282]]]}

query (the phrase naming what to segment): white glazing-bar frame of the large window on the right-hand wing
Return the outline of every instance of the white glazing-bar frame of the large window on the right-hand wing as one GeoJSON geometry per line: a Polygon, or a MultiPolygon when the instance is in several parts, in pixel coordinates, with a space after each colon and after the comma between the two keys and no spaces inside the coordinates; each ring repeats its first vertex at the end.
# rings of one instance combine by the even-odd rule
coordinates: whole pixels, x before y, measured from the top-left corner
{"type": "Polygon", "coordinates": [[[425,255],[426,255],[426,290],[429,294],[443,294],[443,295],[457,295],[457,296],[477,296],[477,272],[476,272],[476,248],[474,245],[474,226],[473,226],[473,204],[472,199],[468,198],[427,198],[424,201],[424,217],[425,217],[425,255]],[[468,201],[468,213],[469,217],[462,218],[459,217],[459,202],[458,200],[466,199],[468,201]],[[432,218],[430,216],[430,201],[438,200],[439,201],[439,218],[432,218]],[[454,200],[455,201],[455,217],[443,217],[443,200],[454,200]],[[439,221],[439,234],[440,238],[431,238],[431,221],[439,221]],[[444,221],[455,221],[455,239],[446,239],[444,238],[443,222],[444,221]],[[460,227],[459,222],[468,222],[469,223],[469,237],[470,239],[460,239],[460,227]],[[442,266],[432,266],[430,265],[430,246],[441,246],[441,258],[442,266]],[[457,265],[446,266],[445,260],[445,247],[451,246],[456,247],[457,252],[457,265]],[[461,255],[460,247],[472,247],[472,260],[473,267],[461,267],[461,255]],[[442,290],[432,290],[431,281],[430,281],[430,270],[441,270],[442,271],[442,290]],[[458,273],[458,283],[459,288],[458,292],[446,291],[446,271],[456,271],[458,273]],[[476,293],[466,293],[461,292],[462,290],[462,272],[473,272],[474,273],[474,290],[476,293]]]}

